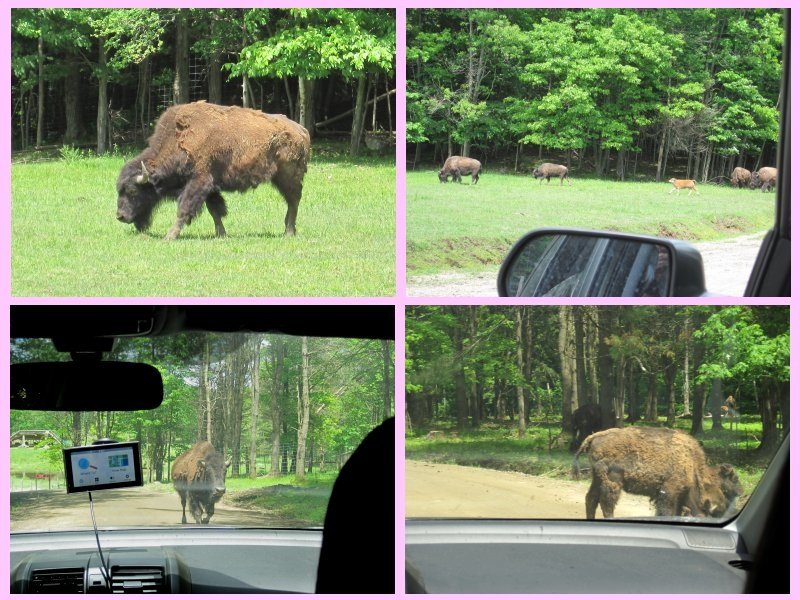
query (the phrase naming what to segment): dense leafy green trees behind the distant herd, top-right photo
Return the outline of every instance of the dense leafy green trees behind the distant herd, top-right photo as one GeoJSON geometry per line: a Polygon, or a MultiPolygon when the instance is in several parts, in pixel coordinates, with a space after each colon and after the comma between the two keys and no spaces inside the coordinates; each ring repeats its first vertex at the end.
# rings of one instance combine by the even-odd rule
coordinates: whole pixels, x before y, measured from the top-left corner
{"type": "Polygon", "coordinates": [[[640,157],[656,178],[774,164],[782,36],[769,9],[410,11],[408,142],[620,179],[640,157]]]}

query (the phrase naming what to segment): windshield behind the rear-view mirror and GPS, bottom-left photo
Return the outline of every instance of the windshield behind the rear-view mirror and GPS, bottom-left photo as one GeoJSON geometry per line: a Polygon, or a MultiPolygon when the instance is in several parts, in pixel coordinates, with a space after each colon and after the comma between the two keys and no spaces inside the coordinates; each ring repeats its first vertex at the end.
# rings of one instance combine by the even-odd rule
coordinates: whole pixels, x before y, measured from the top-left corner
{"type": "MultiPolygon", "coordinates": [[[[66,492],[62,451],[102,438],[139,442],[144,485],[93,492],[100,529],[321,527],[342,465],[394,412],[388,341],[188,333],[118,339],[106,358],[157,367],[163,404],[134,412],[11,411],[12,532],[92,527],[88,494],[66,492]],[[200,472],[215,482],[206,497],[198,495],[200,472]]],[[[11,360],[69,356],[47,339],[15,339],[11,360]]],[[[80,464],[92,468],[74,463],[76,472],[80,464]]]]}

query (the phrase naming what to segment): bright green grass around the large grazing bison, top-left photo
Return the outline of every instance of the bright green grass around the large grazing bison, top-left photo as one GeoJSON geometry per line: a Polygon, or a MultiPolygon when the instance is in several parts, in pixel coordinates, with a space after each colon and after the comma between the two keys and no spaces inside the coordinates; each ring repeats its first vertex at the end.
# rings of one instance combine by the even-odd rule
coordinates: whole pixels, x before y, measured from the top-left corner
{"type": "Polygon", "coordinates": [[[286,203],[265,184],[228,193],[228,237],[206,210],[162,240],[176,204],[147,233],[116,220],[123,158],[14,164],[14,296],[391,296],[395,291],[394,157],[351,161],[315,147],[297,236],[286,203]]]}

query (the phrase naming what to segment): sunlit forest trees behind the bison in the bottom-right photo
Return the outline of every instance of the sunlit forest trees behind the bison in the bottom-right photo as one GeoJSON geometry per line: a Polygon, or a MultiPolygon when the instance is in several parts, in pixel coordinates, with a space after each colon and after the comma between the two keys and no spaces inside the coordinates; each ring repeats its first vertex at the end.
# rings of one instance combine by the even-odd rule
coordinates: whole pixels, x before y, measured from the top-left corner
{"type": "Polygon", "coordinates": [[[524,419],[560,412],[567,432],[572,412],[587,403],[601,406],[606,426],[663,416],[674,425],[696,410],[702,427],[707,412],[720,414],[710,397],[717,381],[740,412],[761,415],[762,447],[772,451],[788,431],[788,328],[788,309],[773,306],[409,307],[407,426],[510,427],[520,421],[521,386],[524,419]],[[684,406],[695,391],[705,402],[679,412],[684,379],[684,406]]]}

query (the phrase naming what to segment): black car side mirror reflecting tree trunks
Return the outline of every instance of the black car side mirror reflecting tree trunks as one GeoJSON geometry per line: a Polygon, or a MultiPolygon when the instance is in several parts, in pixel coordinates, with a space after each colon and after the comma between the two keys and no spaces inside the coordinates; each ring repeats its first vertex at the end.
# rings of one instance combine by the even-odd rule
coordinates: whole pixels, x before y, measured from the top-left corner
{"type": "Polygon", "coordinates": [[[500,296],[701,296],[703,259],[675,240],[578,229],[537,229],[503,261],[500,296]]]}

